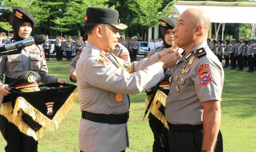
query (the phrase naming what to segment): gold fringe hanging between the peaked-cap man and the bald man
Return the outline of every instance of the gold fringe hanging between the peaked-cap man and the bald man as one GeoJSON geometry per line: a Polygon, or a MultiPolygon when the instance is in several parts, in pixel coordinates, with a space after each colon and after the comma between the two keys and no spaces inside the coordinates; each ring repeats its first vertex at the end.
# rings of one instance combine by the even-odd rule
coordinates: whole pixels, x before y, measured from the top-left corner
{"type": "MultiPolygon", "coordinates": [[[[152,95],[148,95],[145,99],[145,105],[147,106],[150,99],[151,99],[152,95]]],[[[161,104],[163,106],[165,106],[166,103],[166,99],[167,99],[167,95],[161,91],[161,90],[157,90],[155,98],[149,108],[150,112],[158,119],[160,120],[165,127],[169,130],[168,125],[167,125],[167,120],[165,115],[159,111],[159,108],[161,106],[161,104]]]]}

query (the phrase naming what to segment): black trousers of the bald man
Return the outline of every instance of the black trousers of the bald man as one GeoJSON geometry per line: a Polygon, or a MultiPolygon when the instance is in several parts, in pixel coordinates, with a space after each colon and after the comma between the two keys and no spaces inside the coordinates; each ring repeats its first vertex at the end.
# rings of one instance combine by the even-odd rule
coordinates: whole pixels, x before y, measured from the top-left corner
{"type": "MultiPolygon", "coordinates": [[[[171,152],[201,152],[203,142],[203,129],[176,132],[168,131],[168,140],[171,152]]],[[[223,151],[223,139],[221,131],[219,131],[214,146],[214,152],[223,151]]]]}

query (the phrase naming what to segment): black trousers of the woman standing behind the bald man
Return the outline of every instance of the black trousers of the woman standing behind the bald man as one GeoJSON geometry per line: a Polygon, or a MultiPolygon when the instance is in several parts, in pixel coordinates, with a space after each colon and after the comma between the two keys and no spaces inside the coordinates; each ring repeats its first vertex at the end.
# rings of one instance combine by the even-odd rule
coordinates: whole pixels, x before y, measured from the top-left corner
{"type": "Polygon", "coordinates": [[[152,152],[170,152],[167,129],[152,113],[148,114],[149,125],[154,134],[152,152]]]}

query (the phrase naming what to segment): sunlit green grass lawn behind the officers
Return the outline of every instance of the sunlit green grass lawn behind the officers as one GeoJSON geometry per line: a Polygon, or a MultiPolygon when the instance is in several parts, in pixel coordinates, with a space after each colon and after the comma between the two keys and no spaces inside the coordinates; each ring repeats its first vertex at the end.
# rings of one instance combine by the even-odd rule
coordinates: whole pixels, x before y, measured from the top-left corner
{"type": "MultiPolygon", "coordinates": [[[[47,62],[49,73],[68,79],[71,62],[47,62]]],[[[256,74],[225,70],[222,93],[222,122],[224,152],[256,151],[256,74]]],[[[73,83],[72,83],[73,84],[73,83]]],[[[128,152],[152,151],[153,134],[148,119],[142,121],[145,112],[144,92],[130,96],[130,119],[128,121],[130,147],[128,152]]],[[[81,119],[79,102],[75,102],[59,128],[45,131],[39,139],[39,152],[79,152],[78,127],[81,119]]],[[[102,135],[103,136],[103,135],[102,135]]],[[[5,140],[0,136],[0,152],[4,152],[5,140]]],[[[114,146],[114,143],[113,143],[114,146]]]]}

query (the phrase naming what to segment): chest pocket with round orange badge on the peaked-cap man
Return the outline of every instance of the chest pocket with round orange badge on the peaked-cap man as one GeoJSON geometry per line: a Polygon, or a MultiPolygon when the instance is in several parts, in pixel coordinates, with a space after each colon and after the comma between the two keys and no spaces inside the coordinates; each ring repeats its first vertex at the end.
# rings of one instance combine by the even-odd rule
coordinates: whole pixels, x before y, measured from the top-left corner
{"type": "Polygon", "coordinates": [[[124,105],[126,103],[127,103],[126,95],[115,93],[115,92],[110,92],[110,95],[109,95],[109,106],[110,107],[120,106],[120,105],[124,105]]]}

